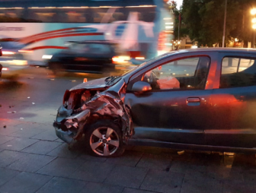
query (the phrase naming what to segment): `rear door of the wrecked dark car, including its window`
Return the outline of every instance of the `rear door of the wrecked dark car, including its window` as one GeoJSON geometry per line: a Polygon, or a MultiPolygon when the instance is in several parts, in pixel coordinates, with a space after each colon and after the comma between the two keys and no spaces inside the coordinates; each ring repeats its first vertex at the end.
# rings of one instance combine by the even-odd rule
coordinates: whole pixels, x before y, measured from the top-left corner
{"type": "Polygon", "coordinates": [[[256,148],[256,57],[220,52],[219,86],[212,91],[208,145],[256,148]]]}

